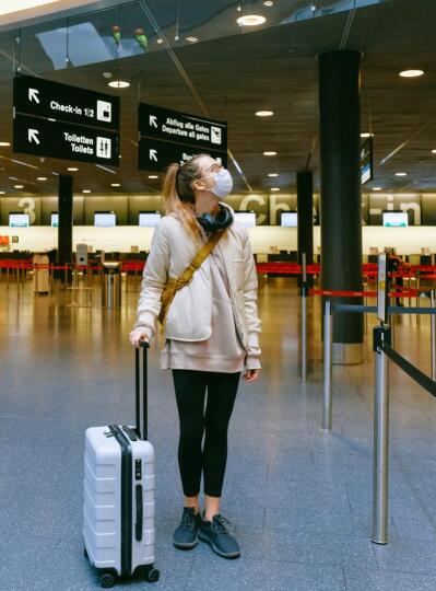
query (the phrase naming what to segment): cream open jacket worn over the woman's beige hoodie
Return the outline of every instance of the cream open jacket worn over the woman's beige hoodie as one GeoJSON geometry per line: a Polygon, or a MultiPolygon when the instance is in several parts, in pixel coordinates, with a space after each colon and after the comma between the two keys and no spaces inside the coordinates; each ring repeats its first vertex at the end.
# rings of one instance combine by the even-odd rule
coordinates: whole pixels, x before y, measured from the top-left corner
{"type": "MultiPolygon", "coordinates": [[[[222,204],[224,207],[229,207],[222,204]]],[[[151,252],[144,268],[135,327],[150,328],[161,311],[161,294],[167,277],[178,277],[201,247],[200,241],[181,222],[165,216],[154,231],[151,252]]],[[[257,273],[247,229],[234,222],[216,246],[221,248],[234,303],[235,324],[247,354],[259,347],[260,320],[257,311],[257,273]]],[[[212,333],[212,290],[209,260],[193,274],[191,282],[180,289],[167,313],[165,338],[207,340],[212,333]]]]}

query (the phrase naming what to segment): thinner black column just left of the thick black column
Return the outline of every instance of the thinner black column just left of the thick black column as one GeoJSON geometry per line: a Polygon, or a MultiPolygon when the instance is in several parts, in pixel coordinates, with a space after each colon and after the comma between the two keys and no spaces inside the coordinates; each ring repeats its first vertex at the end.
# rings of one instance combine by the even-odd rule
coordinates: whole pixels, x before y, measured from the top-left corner
{"type": "MultiPolygon", "coordinates": [[[[297,210],[298,210],[298,263],[303,262],[302,254],[306,253],[306,263],[314,263],[314,173],[311,171],[297,172],[297,210]]],[[[314,285],[314,277],[307,276],[309,287],[314,285]]],[[[298,276],[302,285],[302,276],[298,276]]]]}

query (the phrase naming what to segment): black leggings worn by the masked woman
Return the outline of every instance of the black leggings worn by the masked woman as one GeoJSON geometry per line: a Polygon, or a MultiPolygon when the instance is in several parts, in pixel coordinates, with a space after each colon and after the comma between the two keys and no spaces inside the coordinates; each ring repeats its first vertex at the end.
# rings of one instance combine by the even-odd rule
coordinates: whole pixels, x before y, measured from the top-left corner
{"type": "Polygon", "coordinates": [[[239,372],[173,370],[180,419],[178,463],[187,497],[200,493],[201,472],[204,494],[221,497],[227,462],[227,429],[239,376],[239,372]],[[201,449],[204,431],[204,448],[201,449]]]}

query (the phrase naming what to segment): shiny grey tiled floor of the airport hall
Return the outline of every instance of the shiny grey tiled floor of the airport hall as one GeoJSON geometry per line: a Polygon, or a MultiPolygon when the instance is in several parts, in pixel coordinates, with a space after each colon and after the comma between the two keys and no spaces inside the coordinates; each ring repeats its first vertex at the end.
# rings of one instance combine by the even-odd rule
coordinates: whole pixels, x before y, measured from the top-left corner
{"type": "MultiPolygon", "coordinates": [[[[298,301],[290,286],[275,279],[261,291],[264,371],[259,383],[241,386],[232,419],[223,512],[241,544],[236,561],[209,546],[180,553],[172,545],[181,501],[178,422],[170,375],[158,370],[157,348],[151,352],[162,571],[153,588],[433,590],[436,402],[392,368],[390,543],[375,546],[370,343],[363,366],[334,368],[334,431],[322,432],[319,304],[310,303],[310,374],[303,384],[298,301]]],[[[0,281],[0,590],[89,591],[99,583],[83,558],[83,433],[132,418],[127,333],[137,293],[125,293],[121,310],[109,313],[70,309],[61,291],[33,298],[30,288],[19,303],[16,287],[0,281]]],[[[398,321],[400,352],[427,372],[428,333],[427,318],[398,321]]]]}

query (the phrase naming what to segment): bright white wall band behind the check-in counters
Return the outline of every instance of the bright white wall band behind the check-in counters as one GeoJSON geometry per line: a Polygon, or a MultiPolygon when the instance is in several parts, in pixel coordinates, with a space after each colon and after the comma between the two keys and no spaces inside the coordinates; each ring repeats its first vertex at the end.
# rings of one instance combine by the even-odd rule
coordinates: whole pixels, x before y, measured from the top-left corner
{"type": "MultiPolygon", "coordinates": [[[[255,253],[268,253],[271,246],[279,250],[297,250],[297,229],[279,225],[259,225],[249,229],[251,245],[255,253]]],[[[19,243],[12,244],[11,250],[43,252],[57,247],[58,231],[56,228],[34,225],[31,228],[0,227],[0,235],[19,236],[19,243]]],[[[131,246],[140,251],[150,250],[153,235],[152,228],[134,225],[118,225],[117,228],[94,228],[78,225],[73,228],[73,246],[78,242],[89,244],[94,251],[130,252],[131,246]]],[[[11,239],[10,239],[11,241],[11,239]]],[[[12,241],[11,241],[12,242],[12,241]]],[[[314,228],[314,247],[320,246],[320,228],[314,228]]],[[[391,246],[398,254],[420,254],[422,247],[428,247],[436,253],[436,227],[415,225],[409,228],[382,228],[367,225],[363,228],[363,251],[369,254],[369,247],[382,248],[391,246]]]]}

